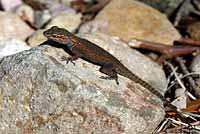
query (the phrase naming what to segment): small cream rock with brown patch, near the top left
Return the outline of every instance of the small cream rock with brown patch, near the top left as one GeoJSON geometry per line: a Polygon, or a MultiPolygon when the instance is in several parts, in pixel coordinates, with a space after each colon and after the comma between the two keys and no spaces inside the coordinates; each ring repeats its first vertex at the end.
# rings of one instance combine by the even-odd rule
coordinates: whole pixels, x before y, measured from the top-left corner
{"type": "Polygon", "coordinates": [[[26,4],[21,4],[14,11],[19,15],[23,20],[33,24],[34,23],[34,10],[26,4]]]}

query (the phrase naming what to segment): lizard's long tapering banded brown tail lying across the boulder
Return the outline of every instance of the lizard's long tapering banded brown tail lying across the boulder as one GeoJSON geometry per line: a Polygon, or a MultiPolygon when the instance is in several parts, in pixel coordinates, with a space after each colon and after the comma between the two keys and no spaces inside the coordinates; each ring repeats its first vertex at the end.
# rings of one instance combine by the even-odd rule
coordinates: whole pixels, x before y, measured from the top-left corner
{"type": "Polygon", "coordinates": [[[125,66],[123,67],[119,67],[117,70],[117,73],[129,78],[130,80],[139,83],[140,85],[142,85],[143,87],[145,87],[146,89],[148,89],[149,91],[151,91],[151,93],[153,93],[154,95],[158,96],[161,100],[165,101],[164,96],[158,92],[154,87],[152,87],[149,83],[145,82],[144,80],[142,80],[141,78],[139,78],[137,75],[133,74],[128,68],[126,68],[125,66]]]}

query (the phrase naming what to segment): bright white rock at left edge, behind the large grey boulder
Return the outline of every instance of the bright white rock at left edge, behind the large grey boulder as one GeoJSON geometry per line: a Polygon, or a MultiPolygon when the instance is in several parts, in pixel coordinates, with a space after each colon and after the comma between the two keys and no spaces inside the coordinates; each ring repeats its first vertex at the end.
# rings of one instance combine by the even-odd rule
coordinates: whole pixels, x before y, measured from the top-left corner
{"type": "Polygon", "coordinates": [[[21,40],[0,38],[0,58],[28,50],[30,47],[21,40]]]}

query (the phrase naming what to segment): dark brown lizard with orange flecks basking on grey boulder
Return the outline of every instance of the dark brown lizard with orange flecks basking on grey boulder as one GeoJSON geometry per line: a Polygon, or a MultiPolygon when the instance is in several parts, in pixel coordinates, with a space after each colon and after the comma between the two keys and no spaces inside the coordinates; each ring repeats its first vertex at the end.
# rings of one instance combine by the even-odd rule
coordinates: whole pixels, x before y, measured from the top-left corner
{"type": "Polygon", "coordinates": [[[80,38],[73,33],[69,32],[64,28],[59,28],[57,26],[52,26],[50,29],[47,29],[43,32],[44,36],[47,37],[48,40],[52,40],[56,43],[64,45],[67,49],[72,53],[71,57],[66,59],[67,63],[77,60],[81,58],[90,63],[100,66],[99,71],[103,74],[109,76],[108,78],[114,79],[117,84],[118,74],[128,79],[139,83],[154,95],[158,96],[161,100],[165,100],[164,96],[158,92],[154,87],[152,87],[149,83],[139,78],[137,75],[132,73],[127,67],[125,67],[117,58],[111,55],[108,51],[104,50],[100,46],[86,40],[80,38]]]}

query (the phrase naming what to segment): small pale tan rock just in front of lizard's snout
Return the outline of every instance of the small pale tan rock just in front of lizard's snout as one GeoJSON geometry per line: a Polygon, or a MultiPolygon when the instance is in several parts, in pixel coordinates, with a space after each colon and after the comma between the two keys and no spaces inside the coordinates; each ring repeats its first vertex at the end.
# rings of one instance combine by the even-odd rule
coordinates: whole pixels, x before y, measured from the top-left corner
{"type": "Polygon", "coordinates": [[[37,30],[33,35],[31,35],[27,42],[30,47],[36,47],[39,44],[43,43],[47,40],[47,38],[43,35],[44,29],[37,30]]]}

